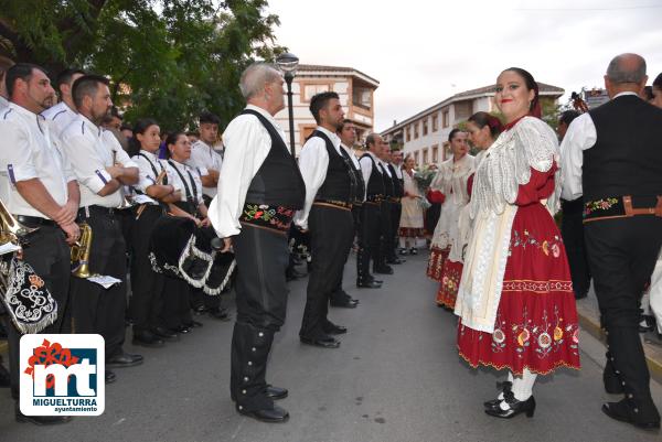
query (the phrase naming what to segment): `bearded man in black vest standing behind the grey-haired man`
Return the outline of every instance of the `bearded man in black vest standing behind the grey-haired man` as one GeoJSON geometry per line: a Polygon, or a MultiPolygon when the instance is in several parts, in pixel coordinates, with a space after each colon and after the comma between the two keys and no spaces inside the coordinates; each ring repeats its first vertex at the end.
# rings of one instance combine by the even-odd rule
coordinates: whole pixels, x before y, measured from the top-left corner
{"type": "Polygon", "coordinates": [[[318,123],[299,155],[306,183],[306,204],[296,224],[310,228],[312,270],[308,280],[306,309],[299,337],[303,344],[337,348],[332,335],[346,333],[327,317],[329,299],[344,269],[352,247],[354,219],[352,203],[356,179],[352,160],[337,134],[344,112],[337,93],[320,93],[310,99],[310,112],[318,123]]]}

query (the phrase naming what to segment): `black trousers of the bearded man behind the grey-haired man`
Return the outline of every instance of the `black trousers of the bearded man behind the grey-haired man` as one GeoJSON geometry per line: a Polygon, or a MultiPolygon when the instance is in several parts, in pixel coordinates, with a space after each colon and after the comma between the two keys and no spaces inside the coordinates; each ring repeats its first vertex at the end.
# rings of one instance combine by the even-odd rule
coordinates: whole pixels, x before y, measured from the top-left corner
{"type": "Polygon", "coordinates": [[[342,280],[352,247],[354,219],[350,209],[313,204],[308,225],[314,258],[299,335],[314,339],[325,335],[329,300],[338,282],[342,280]]]}

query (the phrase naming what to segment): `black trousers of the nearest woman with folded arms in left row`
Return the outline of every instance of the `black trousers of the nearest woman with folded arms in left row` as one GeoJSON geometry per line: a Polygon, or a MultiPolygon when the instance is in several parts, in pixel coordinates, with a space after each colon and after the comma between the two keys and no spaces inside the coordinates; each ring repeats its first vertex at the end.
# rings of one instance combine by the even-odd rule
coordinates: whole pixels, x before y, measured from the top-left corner
{"type": "MultiPolygon", "coordinates": [[[[134,211],[135,213],[136,211],[134,211]]],[[[163,212],[159,206],[147,206],[131,229],[131,301],[129,316],[134,320],[134,333],[163,325],[159,321],[162,308],[164,277],[152,270],[149,260],[149,240],[163,212]]]]}

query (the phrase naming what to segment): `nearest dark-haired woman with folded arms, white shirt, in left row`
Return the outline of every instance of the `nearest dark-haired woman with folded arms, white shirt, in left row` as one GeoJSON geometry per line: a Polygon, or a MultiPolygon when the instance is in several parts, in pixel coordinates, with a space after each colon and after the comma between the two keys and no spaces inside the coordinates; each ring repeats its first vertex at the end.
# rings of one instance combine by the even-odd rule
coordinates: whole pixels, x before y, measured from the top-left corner
{"type": "Polygon", "coordinates": [[[180,193],[170,184],[172,171],[157,158],[160,128],[152,119],[141,119],[134,127],[129,154],[138,164],[139,179],[135,185],[140,205],[134,209],[131,229],[131,300],[129,316],[134,321],[134,344],[161,347],[163,339],[177,339],[178,334],[167,330],[159,315],[162,308],[163,276],[152,271],[149,259],[150,238],[154,224],[166,214],[168,204],[179,201],[180,193]]]}

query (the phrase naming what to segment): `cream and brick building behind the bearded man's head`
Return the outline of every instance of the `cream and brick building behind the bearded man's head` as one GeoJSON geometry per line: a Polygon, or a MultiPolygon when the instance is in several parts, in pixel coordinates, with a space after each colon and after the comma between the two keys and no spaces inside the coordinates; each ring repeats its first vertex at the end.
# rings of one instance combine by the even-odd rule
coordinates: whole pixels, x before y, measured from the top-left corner
{"type": "MultiPolygon", "coordinates": [[[[356,127],[357,142],[373,131],[374,91],[380,82],[353,67],[299,65],[292,80],[292,108],[295,116],[295,147],[300,152],[306,139],[317,127],[310,114],[310,98],[319,93],[332,90],[340,96],[345,118],[356,127]]],[[[286,106],[276,115],[276,120],[288,137],[289,114],[286,106]]]]}

